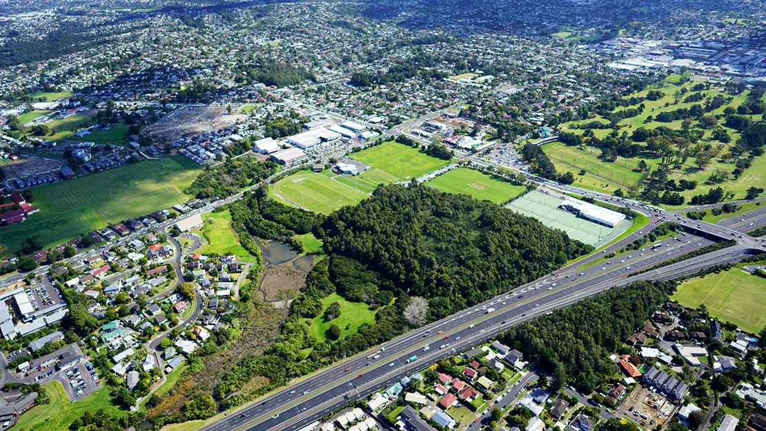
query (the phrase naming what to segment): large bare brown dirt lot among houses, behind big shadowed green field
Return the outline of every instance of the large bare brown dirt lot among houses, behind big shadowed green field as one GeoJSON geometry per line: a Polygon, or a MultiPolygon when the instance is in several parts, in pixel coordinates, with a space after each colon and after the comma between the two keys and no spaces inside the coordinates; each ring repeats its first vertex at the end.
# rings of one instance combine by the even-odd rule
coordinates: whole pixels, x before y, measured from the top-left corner
{"type": "Polygon", "coordinates": [[[142,135],[151,136],[155,142],[167,138],[174,142],[191,138],[200,133],[211,132],[231,126],[237,119],[245,119],[243,113],[227,113],[225,106],[186,106],[169,113],[165,118],[143,130],[142,135]]]}

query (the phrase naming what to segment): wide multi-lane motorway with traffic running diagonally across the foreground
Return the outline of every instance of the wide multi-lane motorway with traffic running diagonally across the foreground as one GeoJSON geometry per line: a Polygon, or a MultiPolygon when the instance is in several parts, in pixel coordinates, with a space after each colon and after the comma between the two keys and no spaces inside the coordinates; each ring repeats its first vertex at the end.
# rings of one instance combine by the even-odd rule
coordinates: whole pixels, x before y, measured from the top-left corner
{"type": "MultiPolygon", "coordinates": [[[[620,240],[605,249],[604,253],[611,253],[637,237],[646,235],[655,226],[656,224],[647,226],[642,233],[635,233],[620,240]]],[[[378,358],[368,358],[371,351],[359,354],[258,400],[250,407],[231,413],[203,430],[300,429],[336,408],[365,397],[368,393],[420,370],[439,358],[456,354],[480,341],[492,338],[511,325],[517,325],[552,309],[571,305],[588,295],[633,280],[676,278],[709,266],[735,262],[746,256],[751,249],[741,243],[627,278],[628,273],[705,247],[718,239],[711,238],[709,234],[703,236],[693,233],[679,235],[677,238],[664,240],[662,247],[653,248],[648,245],[643,250],[625,253],[602,263],[591,262],[604,256],[603,253],[588,256],[554,274],[548,274],[513,289],[512,292],[401,335],[383,344],[382,348],[385,348],[385,351],[381,351],[378,358]],[[591,263],[591,266],[588,266],[588,263],[591,263]],[[488,313],[487,309],[496,311],[488,313]],[[430,330],[430,335],[424,336],[427,330],[430,330]],[[438,331],[443,333],[437,335],[438,331]],[[429,346],[427,351],[423,350],[425,345],[429,346]],[[417,355],[417,359],[408,362],[414,355],[417,355]]],[[[740,239],[737,236],[737,239],[745,238],[740,239]]],[[[377,348],[374,348],[372,352],[376,350],[377,348]]]]}

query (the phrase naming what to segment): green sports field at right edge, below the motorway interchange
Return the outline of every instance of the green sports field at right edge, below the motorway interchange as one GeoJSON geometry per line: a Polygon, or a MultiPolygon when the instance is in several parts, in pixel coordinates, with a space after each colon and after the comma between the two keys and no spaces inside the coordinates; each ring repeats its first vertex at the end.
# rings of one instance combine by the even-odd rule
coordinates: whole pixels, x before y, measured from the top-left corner
{"type": "Polygon", "coordinates": [[[688,279],[673,299],[686,307],[705,304],[710,315],[758,334],[766,324],[766,279],[732,268],[688,279]]]}

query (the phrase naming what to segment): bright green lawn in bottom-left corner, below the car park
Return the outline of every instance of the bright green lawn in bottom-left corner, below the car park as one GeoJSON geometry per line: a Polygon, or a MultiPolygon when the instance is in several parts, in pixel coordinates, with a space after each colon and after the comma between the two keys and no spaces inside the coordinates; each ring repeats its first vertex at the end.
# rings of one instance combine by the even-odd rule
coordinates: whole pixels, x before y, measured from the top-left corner
{"type": "Polygon", "coordinates": [[[72,421],[87,411],[95,413],[98,410],[106,412],[117,411],[113,406],[109,390],[105,387],[91,393],[82,400],[70,403],[61,382],[54,380],[43,385],[51,403],[32,407],[21,415],[14,429],[19,431],[61,431],[68,429],[72,421]]]}

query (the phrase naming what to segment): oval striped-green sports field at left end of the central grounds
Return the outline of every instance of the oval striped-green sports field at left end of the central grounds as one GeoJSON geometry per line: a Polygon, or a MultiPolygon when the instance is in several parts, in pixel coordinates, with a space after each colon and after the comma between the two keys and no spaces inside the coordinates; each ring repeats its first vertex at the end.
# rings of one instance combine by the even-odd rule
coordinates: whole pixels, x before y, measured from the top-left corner
{"type": "Polygon", "coordinates": [[[354,205],[367,198],[362,191],[311,171],[282,178],[270,187],[270,193],[296,207],[322,214],[330,214],[339,207],[354,205]]]}

